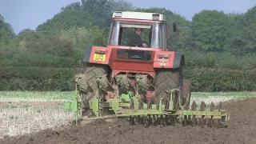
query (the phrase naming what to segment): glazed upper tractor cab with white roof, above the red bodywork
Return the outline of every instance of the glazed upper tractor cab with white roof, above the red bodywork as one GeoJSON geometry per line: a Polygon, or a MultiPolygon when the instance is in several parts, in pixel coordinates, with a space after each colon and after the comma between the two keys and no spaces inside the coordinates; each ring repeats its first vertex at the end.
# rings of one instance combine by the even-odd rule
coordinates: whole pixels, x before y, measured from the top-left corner
{"type": "Polygon", "coordinates": [[[135,29],[142,29],[142,40],[148,44],[148,48],[166,50],[167,29],[166,18],[163,14],[142,13],[130,11],[115,11],[110,26],[109,46],[138,46],[129,45],[130,37],[135,29]]]}

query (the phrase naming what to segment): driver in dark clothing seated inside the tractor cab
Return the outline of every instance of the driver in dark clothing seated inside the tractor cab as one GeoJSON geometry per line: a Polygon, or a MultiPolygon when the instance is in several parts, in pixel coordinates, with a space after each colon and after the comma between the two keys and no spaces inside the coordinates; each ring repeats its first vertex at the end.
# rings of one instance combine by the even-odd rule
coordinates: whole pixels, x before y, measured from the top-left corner
{"type": "Polygon", "coordinates": [[[140,35],[142,34],[142,29],[135,28],[135,33],[130,37],[130,41],[128,42],[129,46],[143,46],[148,47],[148,44],[144,41],[142,41],[142,38],[140,35]]]}

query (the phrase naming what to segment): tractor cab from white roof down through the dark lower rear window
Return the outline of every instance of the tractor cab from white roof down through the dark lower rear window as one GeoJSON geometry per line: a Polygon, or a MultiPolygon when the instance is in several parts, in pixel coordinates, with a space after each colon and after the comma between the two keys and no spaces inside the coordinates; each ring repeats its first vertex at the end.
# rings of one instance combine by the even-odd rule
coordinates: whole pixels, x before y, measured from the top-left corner
{"type": "Polygon", "coordinates": [[[167,40],[165,15],[134,11],[115,11],[112,16],[107,45],[120,48],[117,50],[119,58],[150,61],[152,50],[168,50],[167,40]],[[146,43],[146,46],[130,42],[130,39],[134,36],[138,37],[138,35],[135,35],[136,29],[142,30],[139,37],[146,43]],[[122,50],[122,48],[127,49],[127,47],[137,47],[138,49],[122,50]],[[139,48],[143,48],[143,50],[139,48]]]}

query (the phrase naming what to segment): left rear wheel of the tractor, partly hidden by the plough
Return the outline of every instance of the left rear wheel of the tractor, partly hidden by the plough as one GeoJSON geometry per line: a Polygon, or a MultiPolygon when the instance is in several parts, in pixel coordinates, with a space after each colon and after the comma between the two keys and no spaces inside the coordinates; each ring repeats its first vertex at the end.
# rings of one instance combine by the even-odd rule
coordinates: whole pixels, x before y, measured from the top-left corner
{"type": "MultiPolygon", "coordinates": [[[[84,105],[89,106],[89,101],[91,101],[97,90],[97,83],[96,83],[96,77],[100,75],[109,74],[110,70],[107,66],[104,65],[97,65],[97,64],[90,64],[86,66],[86,70],[83,73],[83,77],[80,79],[80,82],[84,85],[88,83],[88,90],[87,92],[81,91],[82,93],[82,102],[84,105]]],[[[78,89],[82,89],[82,85],[78,87],[78,89]]],[[[90,113],[91,110],[86,109],[84,110],[84,114],[90,116],[88,113],[90,113]]]]}

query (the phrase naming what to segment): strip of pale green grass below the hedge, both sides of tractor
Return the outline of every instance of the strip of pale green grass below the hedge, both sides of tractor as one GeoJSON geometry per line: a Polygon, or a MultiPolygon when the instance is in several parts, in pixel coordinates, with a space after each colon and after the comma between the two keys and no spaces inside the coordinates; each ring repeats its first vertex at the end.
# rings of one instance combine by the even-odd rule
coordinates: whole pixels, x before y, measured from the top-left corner
{"type": "MultiPolygon", "coordinates": [[[[74,91],[0,91],[0,102],[63,102],[74,96],[74,91]]],[[[244,99],[256,97],[256,92],[193,92],[191,100],[227,101],[231,99],[244,99]]]]}

